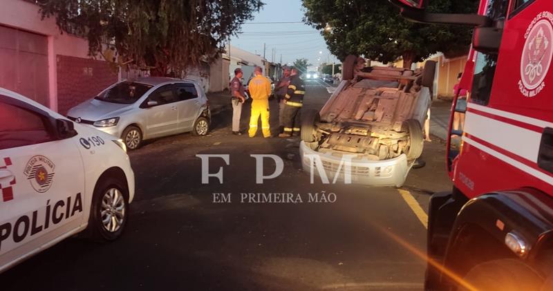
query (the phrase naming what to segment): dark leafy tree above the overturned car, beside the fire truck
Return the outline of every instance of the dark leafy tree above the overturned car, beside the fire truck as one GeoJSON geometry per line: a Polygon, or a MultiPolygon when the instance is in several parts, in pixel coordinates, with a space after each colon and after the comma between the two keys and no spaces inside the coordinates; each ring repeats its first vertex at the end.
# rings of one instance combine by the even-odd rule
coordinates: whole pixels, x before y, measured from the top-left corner
{"type": "MultiPolygon", "coordinates": [[[[302,0],[304,21],[322,30],[330,52],[344,60],[346,55],[364,55],[381,62],[403,57],[404,67],[442,51],[467,50],[471,28],[417,24],[403,19],[399,9],[387,0],[302,0]]],[[[429,12],[471,13],[475,0],[433,0],[429,12]]]]}

